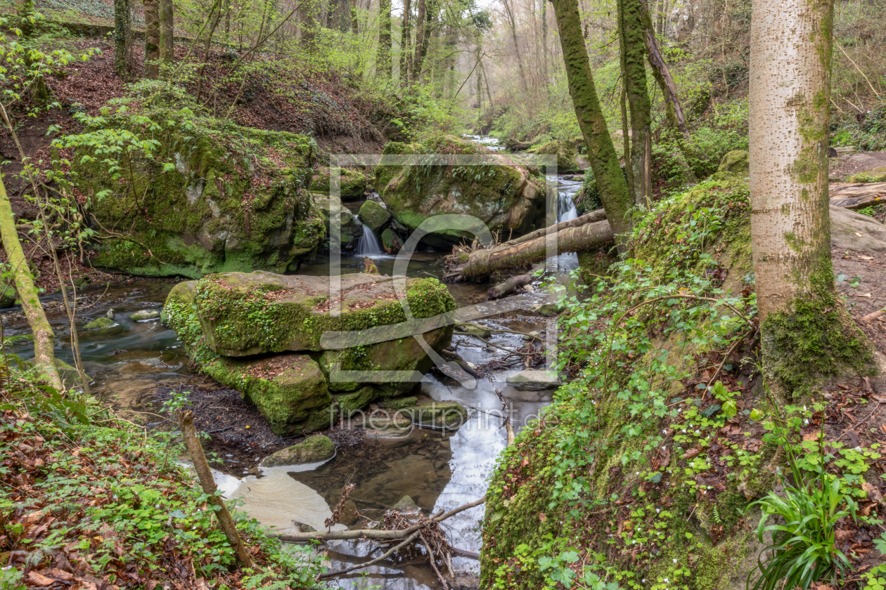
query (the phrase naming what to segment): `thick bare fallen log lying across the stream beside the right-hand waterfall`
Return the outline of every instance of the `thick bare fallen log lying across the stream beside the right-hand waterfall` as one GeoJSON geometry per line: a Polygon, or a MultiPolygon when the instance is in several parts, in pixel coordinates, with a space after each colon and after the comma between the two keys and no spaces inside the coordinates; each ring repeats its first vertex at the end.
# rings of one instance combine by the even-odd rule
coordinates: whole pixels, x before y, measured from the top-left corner
{"type": "MultiPolygon", "coordinates": [[[[588,213],[588,215],[591,214],[588,213]]],[[[579,219],[564,221],[563,224],[573,224],[579,219]]],[[[453,272],[449,272],[446,279],[455,282],[465,279],[481,279],[500,269],[541,262],[553,254],[592,249],[599,244],[615,239],[612,228],[605,219],[558,229],[563,224],[548,228],[549,231],[545,235],[530,241],[517,244],[506,242],[497,248],[475,250],[470,253],[464,264],[457,266],[453,272]],[[553,238],[554,234],[556,234],[556,249],[554,252],[548,253],[548,240],[553,238]]]]}

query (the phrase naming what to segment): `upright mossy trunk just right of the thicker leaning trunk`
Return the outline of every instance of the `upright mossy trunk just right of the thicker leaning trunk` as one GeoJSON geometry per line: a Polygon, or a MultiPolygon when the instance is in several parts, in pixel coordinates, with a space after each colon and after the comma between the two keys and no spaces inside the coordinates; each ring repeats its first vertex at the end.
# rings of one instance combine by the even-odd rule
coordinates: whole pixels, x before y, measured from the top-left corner
{"type": "Polygon", "coordinates": [[[626,141],[627,188],[633,204],[649,205],[652,196],[652,113],[646,84],[646,40],[641,15],[643,0],[618,0],[618,39],[625,96],[631,112],[631,136],[626,141]]]}

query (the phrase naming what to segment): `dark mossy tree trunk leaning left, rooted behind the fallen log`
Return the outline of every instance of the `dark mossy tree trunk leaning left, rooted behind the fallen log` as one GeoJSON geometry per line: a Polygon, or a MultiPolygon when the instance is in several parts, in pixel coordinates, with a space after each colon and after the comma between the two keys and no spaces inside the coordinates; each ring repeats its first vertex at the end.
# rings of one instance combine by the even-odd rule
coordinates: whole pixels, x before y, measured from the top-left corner
{"type": "MultiPolygon", "coordinates": [[[[600,200],[612,231],[617,235],[626,234],[631,228],[626,215],[631,206],[630,196],[597,98],[585,37],[581,33],[579,3],[578,0],[552,0],[551,4],[554,4],[557,27],[560,30],[569,93],[579,119],[581,134],[585,138],[587,159],[594,171],[600,200]]],[[[626,236],[619,237],[620,250],[624,250],[625,240],[626,236]]]]}

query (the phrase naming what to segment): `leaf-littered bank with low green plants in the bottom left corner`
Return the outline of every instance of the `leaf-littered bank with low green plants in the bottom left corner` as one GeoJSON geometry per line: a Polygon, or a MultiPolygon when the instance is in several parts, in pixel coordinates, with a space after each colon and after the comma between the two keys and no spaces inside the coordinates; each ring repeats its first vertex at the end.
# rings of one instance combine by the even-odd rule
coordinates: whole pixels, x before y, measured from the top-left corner
{"type": "Polygon", "coordinates": [[[0,588],[309,587],[310,548],[284,546],[234,511],[257,567],[233,550],[172,433],[144,433],[92,398],[3,375],[0,588]],[[111,587],[111,586],[105,586],[111,587]]]}

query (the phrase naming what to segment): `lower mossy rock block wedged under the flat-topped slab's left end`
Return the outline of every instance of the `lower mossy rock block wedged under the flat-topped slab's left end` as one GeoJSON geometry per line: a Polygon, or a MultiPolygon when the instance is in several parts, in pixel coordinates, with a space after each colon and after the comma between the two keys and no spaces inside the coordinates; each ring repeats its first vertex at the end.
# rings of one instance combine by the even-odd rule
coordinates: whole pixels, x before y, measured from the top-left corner
{"type": "Polygon", "coordinates": [[[325,420],[314,420],[318,424],[302,424],[318,413],[323,418],[323,412],[317,410],[329,408],[332,402],[323,372],[310,356],[287,354],[260,360],[219,356],[201,368],[253,402],[276,434],[312,432],[330,423],[327,412],[325,420]]]}

